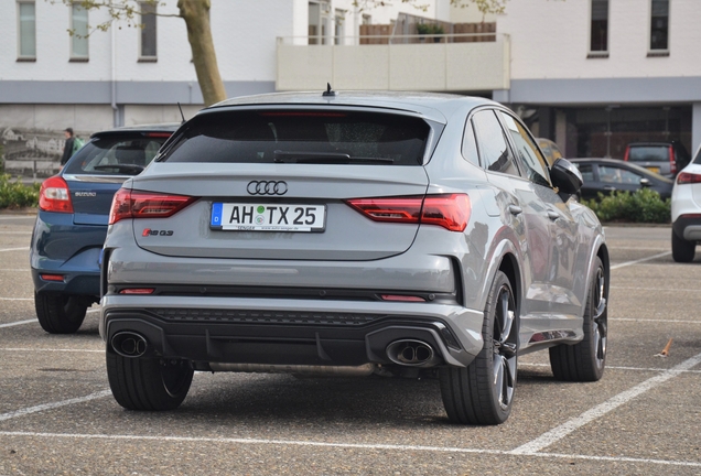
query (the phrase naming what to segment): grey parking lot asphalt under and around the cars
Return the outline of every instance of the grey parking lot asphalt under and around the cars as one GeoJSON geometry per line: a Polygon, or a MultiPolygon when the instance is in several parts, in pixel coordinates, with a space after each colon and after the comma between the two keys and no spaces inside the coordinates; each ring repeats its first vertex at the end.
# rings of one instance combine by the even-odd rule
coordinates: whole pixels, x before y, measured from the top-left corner
{"type": "Polygon", "coordinates": [[[477,428],[449,423],[433,379],[197,374],[176,411],[126,411],[97,307],[75,335],[36,322],[32,225],[0,215],[0,475],[701,475],[701,250],[675,263],[668,227],[606,227],[604,378],[524,356],[511,416],[477,428]]]}

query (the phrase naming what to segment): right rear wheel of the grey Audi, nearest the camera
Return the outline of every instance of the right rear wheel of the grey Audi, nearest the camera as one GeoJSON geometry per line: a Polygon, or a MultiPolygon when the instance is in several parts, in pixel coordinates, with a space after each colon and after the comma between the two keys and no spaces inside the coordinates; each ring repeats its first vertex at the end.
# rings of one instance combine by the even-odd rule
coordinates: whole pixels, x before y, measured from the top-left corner
{"type": "Polygon", "coordinates": [[[482,350],[467,367],[440,369],[443,405],[454,423],[494,425],[504,423],[511,413],[518,349],[511,289],[506,274],[498,271],[485,306],[482,350]]]}

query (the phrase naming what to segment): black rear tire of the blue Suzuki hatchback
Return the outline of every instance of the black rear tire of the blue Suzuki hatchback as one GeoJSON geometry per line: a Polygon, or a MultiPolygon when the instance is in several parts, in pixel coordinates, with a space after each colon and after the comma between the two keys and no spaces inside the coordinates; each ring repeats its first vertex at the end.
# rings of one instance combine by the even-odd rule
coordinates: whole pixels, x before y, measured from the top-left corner
{"type": "Polygon", "coordinates": [[[42,328],[50,334],[73,334],[83,324],[87,305],[82,296],[34,292],[34,309],[42,328]]]}

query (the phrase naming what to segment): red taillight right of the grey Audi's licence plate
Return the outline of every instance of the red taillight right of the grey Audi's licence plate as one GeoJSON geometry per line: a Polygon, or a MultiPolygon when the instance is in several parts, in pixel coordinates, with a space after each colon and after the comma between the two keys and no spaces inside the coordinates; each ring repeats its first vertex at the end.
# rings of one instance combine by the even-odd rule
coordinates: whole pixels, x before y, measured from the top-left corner
{"type": "Polygon", "coordinates": [[[438,225],[451,231],[463,231],[472,210],[465,194],[354,198],[346,203],[375,221],[438,225]]]}

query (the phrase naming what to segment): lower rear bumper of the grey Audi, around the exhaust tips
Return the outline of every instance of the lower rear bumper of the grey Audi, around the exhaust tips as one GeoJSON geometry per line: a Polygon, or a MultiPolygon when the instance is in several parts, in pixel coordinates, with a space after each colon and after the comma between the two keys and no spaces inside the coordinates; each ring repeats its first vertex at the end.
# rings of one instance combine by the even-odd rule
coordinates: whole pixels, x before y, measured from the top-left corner
{"type": "Polygon", "coordinates": [[[201,363],[391,364],[399,339],[425,342],[442,364],[466,366],[483,347],[483,313],[456,305],[239,298],[106,295],[100,335],[134,332],[155,355],[201,363]]]}

